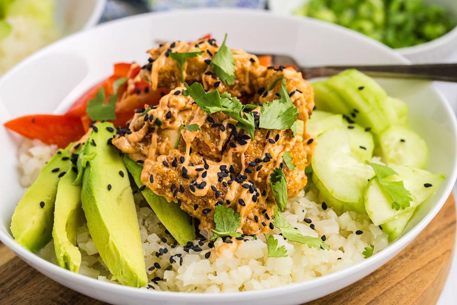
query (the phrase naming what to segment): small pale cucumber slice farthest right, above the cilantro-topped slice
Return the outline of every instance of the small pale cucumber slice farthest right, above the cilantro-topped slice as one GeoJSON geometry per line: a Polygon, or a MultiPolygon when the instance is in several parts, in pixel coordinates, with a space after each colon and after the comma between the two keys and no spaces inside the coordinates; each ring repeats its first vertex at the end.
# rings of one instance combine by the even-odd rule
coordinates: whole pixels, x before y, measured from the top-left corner
{"type": "Polygon", "coordinates": [[[427,164],[427,143],[406,127],[392,126],[380,136],[382,158],[387,165],[424,168],[427,164]]]}

